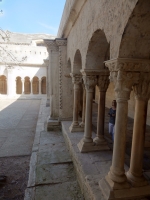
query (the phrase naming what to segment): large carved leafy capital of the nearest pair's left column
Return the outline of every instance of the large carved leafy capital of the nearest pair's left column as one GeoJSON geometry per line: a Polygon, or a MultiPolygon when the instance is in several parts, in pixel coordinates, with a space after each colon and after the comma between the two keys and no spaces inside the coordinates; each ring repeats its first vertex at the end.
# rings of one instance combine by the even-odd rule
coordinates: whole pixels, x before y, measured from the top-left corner
{"type": "Polygon", "coordinates": [[[115,94],[117,101],[127,101],[130,99],[132,86],[139,81],[138,72],[111,72],[110,80],[115,84],[115,94]]]}

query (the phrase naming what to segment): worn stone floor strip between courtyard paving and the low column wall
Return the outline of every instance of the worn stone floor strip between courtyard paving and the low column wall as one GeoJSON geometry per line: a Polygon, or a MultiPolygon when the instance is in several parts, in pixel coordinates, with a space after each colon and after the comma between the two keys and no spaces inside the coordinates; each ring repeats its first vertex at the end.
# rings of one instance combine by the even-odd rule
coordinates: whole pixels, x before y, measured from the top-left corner
{"type": "Polygon", "coordinates": [[[40,106],[24,200],[84,200],[61,131],[44,130],[45,105],[40,106]]]}

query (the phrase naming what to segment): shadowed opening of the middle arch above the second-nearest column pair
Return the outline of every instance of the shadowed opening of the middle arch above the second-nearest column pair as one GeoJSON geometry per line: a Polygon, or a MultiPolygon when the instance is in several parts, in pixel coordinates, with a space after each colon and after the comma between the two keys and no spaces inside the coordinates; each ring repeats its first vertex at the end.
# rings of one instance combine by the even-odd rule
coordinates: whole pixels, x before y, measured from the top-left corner
{"type": "Polygon", "coordinates": [[[98,29],[93,33],[86,55],[86,69],[104,69],[104,61],[110,59],[110,44],[105,33],[98,29]]]}

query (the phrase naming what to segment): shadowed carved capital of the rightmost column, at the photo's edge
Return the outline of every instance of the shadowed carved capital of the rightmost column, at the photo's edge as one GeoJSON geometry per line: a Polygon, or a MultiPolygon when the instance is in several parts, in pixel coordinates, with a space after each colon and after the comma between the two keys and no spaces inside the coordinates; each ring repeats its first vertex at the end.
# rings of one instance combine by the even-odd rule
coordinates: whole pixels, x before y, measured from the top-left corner
{"type": "Polygon", "coordinates": [[[150,73],[141,73],[137,85],[133,86],[135,98],[148,101],[150,98],[150,73]]]}

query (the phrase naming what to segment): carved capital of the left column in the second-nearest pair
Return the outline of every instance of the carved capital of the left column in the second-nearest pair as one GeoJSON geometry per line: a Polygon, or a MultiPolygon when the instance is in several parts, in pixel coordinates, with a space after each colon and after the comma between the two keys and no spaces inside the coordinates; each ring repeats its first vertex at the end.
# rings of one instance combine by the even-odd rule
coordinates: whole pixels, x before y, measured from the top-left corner
{"type": "Polygon", "coordinates": [[[88,92],[93,92],[97,84],[96,75],[83,75],[83,80],[84,80],[86,90],[88,92]]]}

